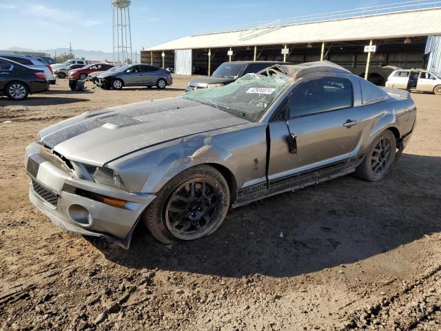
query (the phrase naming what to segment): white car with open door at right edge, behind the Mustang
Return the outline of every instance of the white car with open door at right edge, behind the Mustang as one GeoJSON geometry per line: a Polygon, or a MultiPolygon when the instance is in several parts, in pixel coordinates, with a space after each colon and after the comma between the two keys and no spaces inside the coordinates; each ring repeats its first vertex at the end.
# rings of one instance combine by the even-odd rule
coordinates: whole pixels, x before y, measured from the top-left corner
{"type": "Polygon", "coordinates": [[[394,69],[387,78],[387,88],[441,94],[441,74],[420,69],[394,69]]]}

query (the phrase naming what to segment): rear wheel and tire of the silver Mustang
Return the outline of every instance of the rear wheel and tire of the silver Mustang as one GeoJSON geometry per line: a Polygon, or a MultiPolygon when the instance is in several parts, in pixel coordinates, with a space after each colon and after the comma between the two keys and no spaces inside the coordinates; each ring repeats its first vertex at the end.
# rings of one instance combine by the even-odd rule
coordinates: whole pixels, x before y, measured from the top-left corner
{"type": "Polygon", "coordinates": [[[356,176],[365,181],[381,181],[391,171],[395,161],[397,141],[390,130],[375,139],[365,159],[356,168],[356,176]]]}

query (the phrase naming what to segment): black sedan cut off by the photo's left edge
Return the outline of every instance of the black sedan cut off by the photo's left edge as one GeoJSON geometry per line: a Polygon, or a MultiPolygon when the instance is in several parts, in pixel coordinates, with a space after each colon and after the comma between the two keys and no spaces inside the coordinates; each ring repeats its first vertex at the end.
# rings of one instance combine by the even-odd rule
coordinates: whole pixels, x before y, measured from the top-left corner
{"type": "Polygon", "coordinates": [[[0,57],[0,96],[21,101],[28,94],[49,90],[49,81],[43,70],[32,69],[20,63],[0,57]]]}

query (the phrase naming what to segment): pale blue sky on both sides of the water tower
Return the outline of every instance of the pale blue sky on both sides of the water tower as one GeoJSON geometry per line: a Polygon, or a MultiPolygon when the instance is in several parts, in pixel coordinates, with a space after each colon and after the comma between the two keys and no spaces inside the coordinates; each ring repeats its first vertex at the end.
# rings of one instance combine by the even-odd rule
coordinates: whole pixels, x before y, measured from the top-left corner
{"type": "MultiPolygon", "coordinates": [[[[132,0],[133,50],[198,30],[397,1],[132,0]]],[[[112,50],[110,0],[0,0],[0,49],[112,50]]]]}

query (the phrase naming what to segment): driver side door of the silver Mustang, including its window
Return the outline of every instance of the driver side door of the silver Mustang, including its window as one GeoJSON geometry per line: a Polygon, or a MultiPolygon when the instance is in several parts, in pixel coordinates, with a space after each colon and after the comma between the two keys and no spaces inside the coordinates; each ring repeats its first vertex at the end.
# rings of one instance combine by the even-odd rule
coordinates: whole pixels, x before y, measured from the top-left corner
{"type": "Polygon", "coordinates": [[[360,132],[351,80],[307,79],[283,107],[288,119],[269,123],[269,192],[309,185],[345,170],[360,132]]]}

